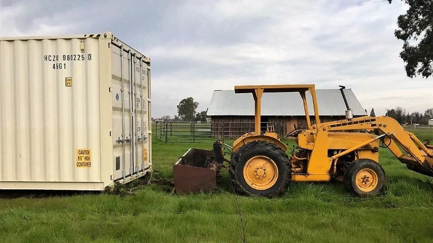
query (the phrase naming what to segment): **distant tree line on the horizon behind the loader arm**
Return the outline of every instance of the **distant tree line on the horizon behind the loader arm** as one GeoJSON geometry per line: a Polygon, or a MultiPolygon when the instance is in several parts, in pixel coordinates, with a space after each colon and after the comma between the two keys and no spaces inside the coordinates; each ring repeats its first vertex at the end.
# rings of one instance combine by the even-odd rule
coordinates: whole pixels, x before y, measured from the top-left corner
{"type": "MultiPolygon", "coordinates": [[[[427,125],[428,120],[433,118],[433,108],[426,109],[424,113],[414,111],[412,113],[400,106],[392,109],[386,109],[386,116],[390,116],[398,121],[399,124],[419,124],[427,125]]],[[[376,116],[374,108],[370,112],[370,116],[376,116]]]]}

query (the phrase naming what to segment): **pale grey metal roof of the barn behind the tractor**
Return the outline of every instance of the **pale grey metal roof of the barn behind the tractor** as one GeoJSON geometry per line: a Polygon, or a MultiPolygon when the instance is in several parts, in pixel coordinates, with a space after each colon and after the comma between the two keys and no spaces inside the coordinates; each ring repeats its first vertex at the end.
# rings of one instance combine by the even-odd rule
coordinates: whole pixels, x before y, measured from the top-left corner
{"type": "MultiPolygon", "coordinates": [[[[344,90],[349,107],[354,115],[366,115],[352,90],[344,90]]],[[[308,110],[314,115],[313,100],[310,92],[306,92],[308,110]]],[[[345,115],[341,92],[338,89],[316,90],[319,115],[345,115]]],[[[234,90],[215,90],[208,109],[208,115],[254,115],[254,99],[252,94],[235,94],[234,90]]],[[[263,93],[261,115],[292,116],[305,115],[304,105],[299,93],[263,93]]]]}

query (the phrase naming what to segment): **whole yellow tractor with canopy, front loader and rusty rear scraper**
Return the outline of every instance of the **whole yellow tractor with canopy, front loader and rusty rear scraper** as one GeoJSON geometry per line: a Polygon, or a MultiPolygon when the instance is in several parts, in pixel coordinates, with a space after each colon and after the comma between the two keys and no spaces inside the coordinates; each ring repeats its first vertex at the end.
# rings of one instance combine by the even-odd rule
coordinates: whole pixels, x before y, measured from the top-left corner
{"type": "Polygon", "coordinates": [[[432,145],[423,144],[391,117],[353,118],[345,87],[340,87],[346,119],[321,123],[314,85],[235,86],[236,93],[252,93],[254,97],[255,131],[244,134],[232,146],[216,141],[212,151],[189,149],[173,167],[176,192],[212,189],[219,171],[226,168],[231,184],[244,195],[275,197],[284,193],[290,182],[336,179],[354,195],[375,196],[386,184],[379,147],[388,148],[408,169],[433,176],[432,145]],[[261,97],[266,92],[298,92],[304,101],[306,128],[295,127],[287,134],[297,144],[290,154],[275,132],[260,132],[261,97]],[[306,92],[313,100],[315,124],[310,122],[306,92]],[[223,156],[227,147],[230,159],[223,156]]]}

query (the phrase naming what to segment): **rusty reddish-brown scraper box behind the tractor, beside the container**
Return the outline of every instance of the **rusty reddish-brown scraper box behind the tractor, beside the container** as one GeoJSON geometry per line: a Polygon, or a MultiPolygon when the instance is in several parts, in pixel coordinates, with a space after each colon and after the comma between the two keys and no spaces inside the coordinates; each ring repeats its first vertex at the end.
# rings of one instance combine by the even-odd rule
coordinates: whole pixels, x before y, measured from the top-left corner
{"type": "Polygon", "coordinates": [[[216,167],[210,166],[214,152],[190,148],[173,166],[176,193],[207,191],[216,187],[216,167]],[[209,168],[210,167],[210,168],[209,168]]]}

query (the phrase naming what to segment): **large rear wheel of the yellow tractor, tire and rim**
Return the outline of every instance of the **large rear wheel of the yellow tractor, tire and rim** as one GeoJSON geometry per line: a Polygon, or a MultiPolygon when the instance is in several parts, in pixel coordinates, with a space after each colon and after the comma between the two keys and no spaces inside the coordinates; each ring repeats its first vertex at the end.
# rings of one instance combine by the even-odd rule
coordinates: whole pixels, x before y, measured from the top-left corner
{"type": "Polygon", "coordinates": [[[280,196],[290,182],[289,165],[288,155],[276,144],[268,141],[249,142],[231,156],[231,185],[237,193],[246,196],[280,196]]]}

